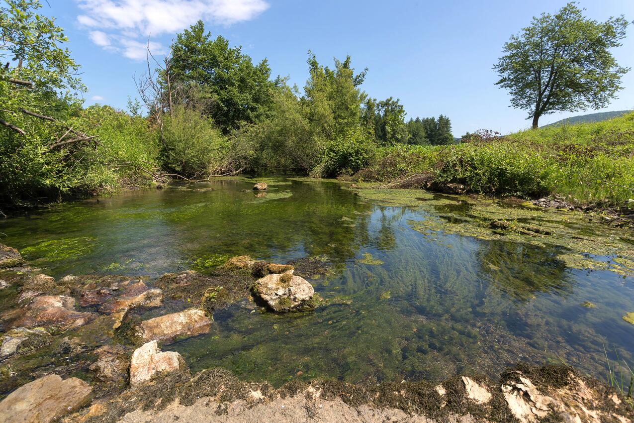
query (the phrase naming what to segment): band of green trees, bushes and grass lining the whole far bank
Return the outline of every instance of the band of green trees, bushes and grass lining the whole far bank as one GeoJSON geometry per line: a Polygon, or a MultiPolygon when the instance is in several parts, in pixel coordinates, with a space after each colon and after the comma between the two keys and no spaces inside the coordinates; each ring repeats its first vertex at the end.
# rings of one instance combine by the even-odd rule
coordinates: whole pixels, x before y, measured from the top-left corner
{"type": "MultiPolygon", "coordinates": [[[[239,46],[212,37],[202,21],[177,34],[161,62],[148,51],[148,72],[136,81],[140,100],[130,98],[126,111],[84,108],[79,65],[61,47],[68,41],[63,30],[39,15],[40,7],[33,1],[1,10],[6,48],[20,56],[0,77],[2,214],[170,181],[295,174],[550,197],[631,222],[634,114],[508,135],[481,130],[456,141],[445,115],[406,120],[398,98],[377,100],[363,91],[368,69],[355,70],[350,56],[329,67],[309,51],[309,78],[300,90],[273,78],[266,59],[254,63],[239,46]],[[20,44],[33,34],[48,36],[20,44]]],[[[574,4],[564,12],[571,22],[583,20],[574,4]]],[[[612,44],[624,37],[622,21],[603,24],[601,31],[612,29],[612,44]]],[[[511,83],[507,77],[505,86],[511,83]]],[[[540,113],[548,113],[543,107],[540,113]]]]}

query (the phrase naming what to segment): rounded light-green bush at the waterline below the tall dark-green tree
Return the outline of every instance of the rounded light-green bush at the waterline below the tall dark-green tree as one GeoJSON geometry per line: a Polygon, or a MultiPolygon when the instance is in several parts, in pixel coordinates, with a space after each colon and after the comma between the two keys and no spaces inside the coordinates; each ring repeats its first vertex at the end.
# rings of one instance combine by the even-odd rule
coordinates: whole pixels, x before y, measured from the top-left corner
{"type": "Polygon", "coordinates": [[[207,178],[223,166],[229,145],[211,119],[197,110],[176,107],[160,131],[163,166],[186,178],[207,178]]]}

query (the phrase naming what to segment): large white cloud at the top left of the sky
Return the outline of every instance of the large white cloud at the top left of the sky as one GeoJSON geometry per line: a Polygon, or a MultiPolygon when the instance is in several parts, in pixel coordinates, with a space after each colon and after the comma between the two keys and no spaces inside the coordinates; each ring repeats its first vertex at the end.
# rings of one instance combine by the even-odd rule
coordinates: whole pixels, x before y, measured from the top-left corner
{"type": "MultiPolygon", "coordinates": [[[[91,40],[98,46],[120,51],[133,59],[145,58],[146,42],[139,39],[173,34],[198,19],[219,25],[244,22],[269,7],[265,0],[76,1],[84,11],[77,16],[77,22],[91,29],[91,40]]],[[[160,48],[160,45],[157,44],[157,47],[160,48]]],[[[152,52],[155,53],[154,50],[152,52]]]]}

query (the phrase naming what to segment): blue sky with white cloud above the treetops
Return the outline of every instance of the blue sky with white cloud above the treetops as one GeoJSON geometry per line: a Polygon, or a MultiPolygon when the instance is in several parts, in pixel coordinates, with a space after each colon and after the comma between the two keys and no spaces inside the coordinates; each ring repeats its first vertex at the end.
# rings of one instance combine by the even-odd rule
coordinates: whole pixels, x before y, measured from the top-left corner
{"type": "MultiPolygon", "coordinates": [[[[293,0],[49,0],[42,13],[55,16],[70,38],[89,91],[86,105],[124,108],[135,96],[134,74],[143,72],[148,37],[164,51],[174,35],[201,18],[212,34],[242,45],[254,62],[268,58],[273,75],[304,86],[307,51],[321,63],[351,55],[368,67],[363,89],[380,99],[400,98],[409,117],[448,115],[453,133],[528,127],[526,112],[508,107],[491,69],[505,41],[541,12],[564,0],[293,1],[293,0]]],[[[597,20],[624,14],[632,0],[582,0],[597,20]]],[[[634,25],[614,54],[634,68],[634,25]]],[[[604,110],[634,109],[634,70],[619,99],[604,110]]],[[[589,110],[586,113],[590,113],[589,110]]],[[[541,124],[569,113],[542,117],[541,124]]]]}

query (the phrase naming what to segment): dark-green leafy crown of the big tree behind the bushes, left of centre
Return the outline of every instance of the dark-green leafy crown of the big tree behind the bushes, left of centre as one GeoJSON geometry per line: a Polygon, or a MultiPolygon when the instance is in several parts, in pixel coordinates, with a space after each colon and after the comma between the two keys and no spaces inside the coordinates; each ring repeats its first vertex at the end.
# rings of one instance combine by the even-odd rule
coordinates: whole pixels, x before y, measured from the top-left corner
{"type": "Polygon", "coordinates": [[[176,36],[171,53],[172,83],[197,88],[188,90],[197,98],[184,101],[197,101],[225,133],[268,114],[275,82],[266,59],[254,65],[240,47],[213,39],[201,20],[176,36]]]}

